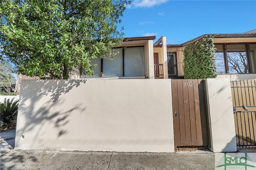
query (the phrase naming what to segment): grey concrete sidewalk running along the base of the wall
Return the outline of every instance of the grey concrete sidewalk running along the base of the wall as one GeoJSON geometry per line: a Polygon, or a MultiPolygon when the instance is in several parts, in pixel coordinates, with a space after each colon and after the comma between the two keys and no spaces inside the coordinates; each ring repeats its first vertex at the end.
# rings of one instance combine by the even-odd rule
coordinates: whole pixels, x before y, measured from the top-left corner
{"type": "Polygon", "coordinates": [[[8,170],[213,170],[214,153],[119,153],[11,150],[1,156],[8,170]]]}

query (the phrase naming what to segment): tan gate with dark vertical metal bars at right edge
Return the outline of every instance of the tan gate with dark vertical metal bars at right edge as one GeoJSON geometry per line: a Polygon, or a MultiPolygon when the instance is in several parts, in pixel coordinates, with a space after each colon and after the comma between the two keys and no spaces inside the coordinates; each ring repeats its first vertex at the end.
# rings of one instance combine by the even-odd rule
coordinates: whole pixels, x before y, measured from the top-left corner
{"type": "Polygon", "coordinates": [[[231,81],[238,148],[256,148],[256,80],[231,81]]]}

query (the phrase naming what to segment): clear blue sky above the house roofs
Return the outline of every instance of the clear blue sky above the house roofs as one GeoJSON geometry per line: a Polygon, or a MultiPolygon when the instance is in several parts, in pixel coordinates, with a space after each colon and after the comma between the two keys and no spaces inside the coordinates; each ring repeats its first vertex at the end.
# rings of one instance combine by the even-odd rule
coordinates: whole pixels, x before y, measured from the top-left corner
{"type": "Polygon", "coordinates": [[[120,26],[125,37],[165,35],[168,44],[244,33],[256,29],[256,0],[132,0],[120,26]]]}

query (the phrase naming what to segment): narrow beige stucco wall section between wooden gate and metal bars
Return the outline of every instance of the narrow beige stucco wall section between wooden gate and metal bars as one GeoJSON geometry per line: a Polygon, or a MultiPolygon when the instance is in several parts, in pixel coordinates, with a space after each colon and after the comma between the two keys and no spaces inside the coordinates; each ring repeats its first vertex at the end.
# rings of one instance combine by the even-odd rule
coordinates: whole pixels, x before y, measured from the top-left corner
{"type": "Polygon", "coordinates": [[[236,132],[230,79],[206,79],[206,95],[213,152],[236,152],[236,132]]]}

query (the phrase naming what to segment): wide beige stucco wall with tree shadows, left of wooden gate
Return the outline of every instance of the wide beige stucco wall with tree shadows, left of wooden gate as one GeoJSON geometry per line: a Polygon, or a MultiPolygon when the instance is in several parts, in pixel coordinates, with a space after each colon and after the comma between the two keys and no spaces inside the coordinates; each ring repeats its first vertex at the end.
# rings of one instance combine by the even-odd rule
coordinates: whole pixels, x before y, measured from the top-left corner
{"type": "Polygon", "coordinates": [[[169,79],[24,80],[15,149],[174,152],[171,96],[169,79]]]}

